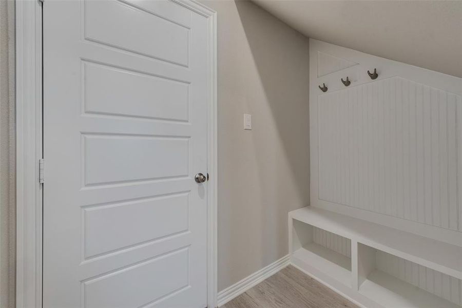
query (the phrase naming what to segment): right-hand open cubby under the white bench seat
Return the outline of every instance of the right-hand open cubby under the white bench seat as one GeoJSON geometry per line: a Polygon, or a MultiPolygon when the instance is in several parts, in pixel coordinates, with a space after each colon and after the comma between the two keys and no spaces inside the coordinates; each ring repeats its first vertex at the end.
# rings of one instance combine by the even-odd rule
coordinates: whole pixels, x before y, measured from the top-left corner
{"type": "Polygon", "coordinates": [[[461,280],[358,243],[359,293],[386,307],[459,308],[461,280]]]}

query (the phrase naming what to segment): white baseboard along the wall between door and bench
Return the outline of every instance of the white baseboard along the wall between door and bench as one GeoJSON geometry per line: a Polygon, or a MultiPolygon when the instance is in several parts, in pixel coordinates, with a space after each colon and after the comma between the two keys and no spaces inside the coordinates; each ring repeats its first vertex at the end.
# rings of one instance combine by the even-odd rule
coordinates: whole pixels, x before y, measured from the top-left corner
{"type": "Polygon", "coordinates": [[[241,295],[249,288],[259,284],[269,276],[279,272],[282,268],[286,267],[290,263],[290,255],[286,255],[281,259],[259,269],[252,275],[249,275],[238,281],[237,283],[233,284],[225,288],[223,291],[218,293],[218,306],[222,306],[228,301],[232,300],[233,298],[241,295]]]}

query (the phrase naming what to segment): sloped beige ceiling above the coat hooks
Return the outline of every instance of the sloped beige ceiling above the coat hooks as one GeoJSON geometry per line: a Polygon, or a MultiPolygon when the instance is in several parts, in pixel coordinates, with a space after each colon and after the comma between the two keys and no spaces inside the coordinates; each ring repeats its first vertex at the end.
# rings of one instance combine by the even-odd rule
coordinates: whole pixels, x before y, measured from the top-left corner
{"type": "Polygon", "coordinates": [[[462,78],[462,0],[253,0],[316,40],[462,78]]]}

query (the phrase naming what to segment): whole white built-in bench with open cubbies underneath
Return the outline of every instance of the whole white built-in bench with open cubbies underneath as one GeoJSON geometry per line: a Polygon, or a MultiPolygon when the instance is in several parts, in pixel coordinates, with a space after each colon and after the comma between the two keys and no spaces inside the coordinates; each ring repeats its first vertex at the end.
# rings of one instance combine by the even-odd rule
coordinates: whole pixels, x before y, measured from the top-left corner
{"type": "Polygon", "coordinates": [[[304,207],[289,213],[291,263],[364,307],[462,307],[462,246],[304,207]]]}

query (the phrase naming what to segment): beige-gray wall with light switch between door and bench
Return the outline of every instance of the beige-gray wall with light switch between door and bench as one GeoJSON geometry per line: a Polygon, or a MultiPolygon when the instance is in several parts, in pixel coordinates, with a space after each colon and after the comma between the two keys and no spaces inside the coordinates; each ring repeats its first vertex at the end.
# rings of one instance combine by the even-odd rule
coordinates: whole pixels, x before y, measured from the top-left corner
{"type": "Polygon", "coordinates": [[[287,212],[309,204],[308,38],[251,2],[201,2],[218,12],[221,291],[285,256],[287,212]]]}

